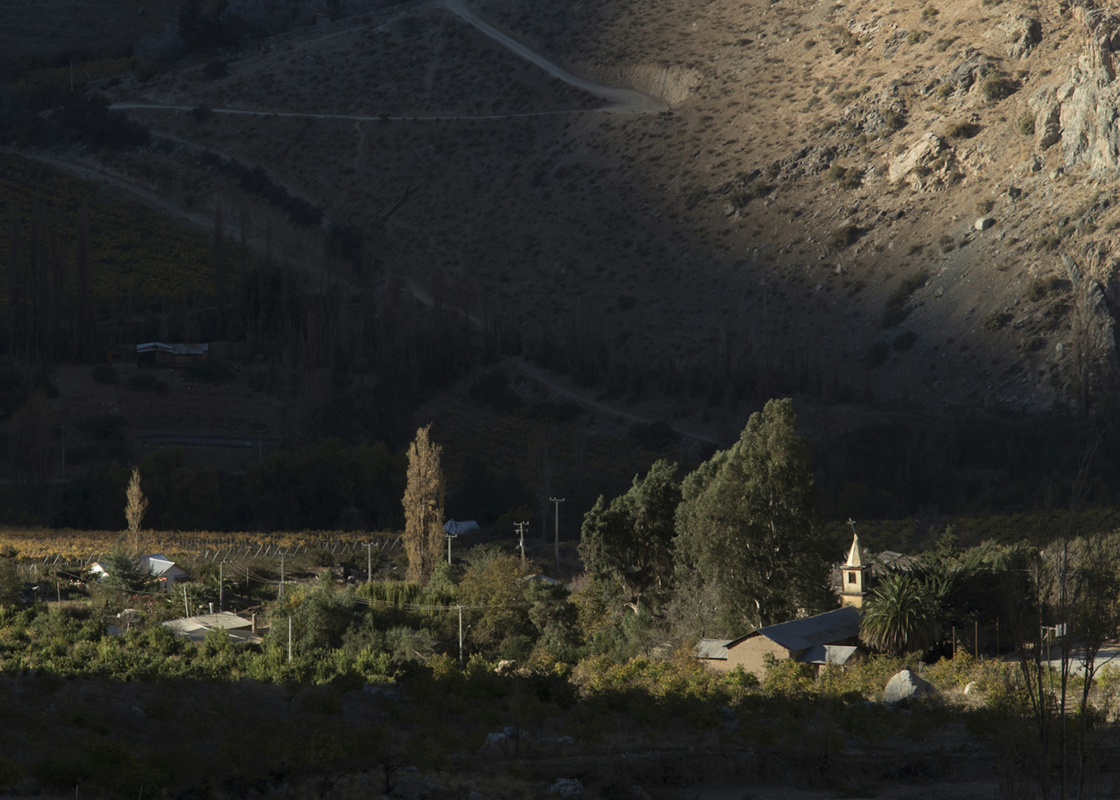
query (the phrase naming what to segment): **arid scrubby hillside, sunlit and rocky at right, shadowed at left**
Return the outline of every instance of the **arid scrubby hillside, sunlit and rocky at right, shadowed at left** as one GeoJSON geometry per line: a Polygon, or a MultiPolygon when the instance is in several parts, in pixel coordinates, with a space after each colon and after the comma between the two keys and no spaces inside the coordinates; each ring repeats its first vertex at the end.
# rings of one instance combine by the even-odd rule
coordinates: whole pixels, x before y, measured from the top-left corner
{"type": "MultiPolygon", "coordinates": [[[[1111,391],[1107,10],[472,8],[662,110],[614,112],[410,3],[248,46],[217,80],[205,59],[125,80],[114,101],[157,139],[109,171],[260,221],[223,165],[260,167],[361,236],[365,277],[332,280],[404,279],[501,319],[538,364],[716,436],[778,392],[1040,410],[1111,391]]],[[[319,227],[292,225],[286,257],[323,269],[319,227]]]]}

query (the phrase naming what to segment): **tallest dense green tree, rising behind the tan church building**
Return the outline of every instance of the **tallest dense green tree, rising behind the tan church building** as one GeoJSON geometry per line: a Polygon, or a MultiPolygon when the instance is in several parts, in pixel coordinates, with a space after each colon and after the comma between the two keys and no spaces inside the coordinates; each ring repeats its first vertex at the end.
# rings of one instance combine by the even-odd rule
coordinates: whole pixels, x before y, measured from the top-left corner
{"type": "Polygon", "coordinates": [[[834,603],[828,542],[813,527],[809,444],[791,400],[750,415],[739,440],[684,478],[676,510],[676,575],[715,593],[728,633],[834,603]]]}

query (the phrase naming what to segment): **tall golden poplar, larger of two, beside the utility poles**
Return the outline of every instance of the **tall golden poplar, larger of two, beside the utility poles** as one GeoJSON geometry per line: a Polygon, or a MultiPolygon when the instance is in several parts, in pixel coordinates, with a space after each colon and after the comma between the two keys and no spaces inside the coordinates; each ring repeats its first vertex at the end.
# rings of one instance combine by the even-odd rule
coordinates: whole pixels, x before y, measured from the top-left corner
{"type": "Polygon", "coordinates": [[[408,485],[404,489],[404,551],[409,579],[427,583],[444,552],[444,448],[435,444],[431,425],[417,429],[409,445],[408,485]]]}

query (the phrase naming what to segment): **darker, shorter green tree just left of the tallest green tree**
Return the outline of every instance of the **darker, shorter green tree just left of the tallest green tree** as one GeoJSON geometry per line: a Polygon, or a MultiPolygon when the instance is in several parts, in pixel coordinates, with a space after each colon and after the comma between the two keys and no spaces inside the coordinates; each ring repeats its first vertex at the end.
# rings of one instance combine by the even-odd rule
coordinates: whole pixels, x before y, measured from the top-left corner
{"type": "Polygon", "coordinates": [[[579,555],[595,578],[622,589],[635,613],[642,597],[668,585],[672,574],[673,520],[681,502],[676,464],[661,459],[645,477],[634,476],[629,490],[610,501],[599,495],[584,517],[579,555]]]}

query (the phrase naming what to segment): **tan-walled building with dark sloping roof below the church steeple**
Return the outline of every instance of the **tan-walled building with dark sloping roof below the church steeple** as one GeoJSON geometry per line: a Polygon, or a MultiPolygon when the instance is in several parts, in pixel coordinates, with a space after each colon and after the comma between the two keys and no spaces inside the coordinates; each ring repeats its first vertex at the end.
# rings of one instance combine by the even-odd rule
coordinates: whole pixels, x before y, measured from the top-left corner
{"type": "Polygon", "coordinates": [[[696,657],[710,669],[730,672],[743,667],[759,678],[767,653],[775,659],[843,666],[859,650],[860,611],[844,606],[824,614],[767,625],[738,639],[701,639],[696,657]]]}

